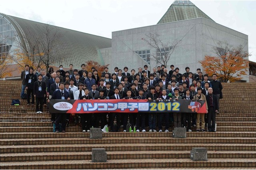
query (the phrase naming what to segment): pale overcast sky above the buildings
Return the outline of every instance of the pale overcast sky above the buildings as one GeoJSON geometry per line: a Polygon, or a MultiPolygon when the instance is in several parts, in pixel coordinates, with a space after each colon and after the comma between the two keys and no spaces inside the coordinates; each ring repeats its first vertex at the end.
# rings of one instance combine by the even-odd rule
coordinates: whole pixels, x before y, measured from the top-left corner
{"type": "MultiPolygon", "coordinates": [[[[103,36],[155,25],[174,0],[0,0],[0,13],[103,36]]],[[[256,1],[191,0],[216,23],[248,35],[256,62],[256,1]]]]}

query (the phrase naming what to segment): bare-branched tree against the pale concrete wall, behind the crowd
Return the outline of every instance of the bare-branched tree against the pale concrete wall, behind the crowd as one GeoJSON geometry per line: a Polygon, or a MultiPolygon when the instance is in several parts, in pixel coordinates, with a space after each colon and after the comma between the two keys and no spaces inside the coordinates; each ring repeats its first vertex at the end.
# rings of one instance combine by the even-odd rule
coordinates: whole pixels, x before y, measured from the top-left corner
{"type": "Polygon", "coordinates": [[[148,33],[145,34],[146,38],[142,38],[148,45],[152,48],[156,49],[156,54],[150,54],[150,59],[153,61],[156,61],[166,67],[168,61],[171,58],[171,55],[178,47],[178,44],[181,42],[181,40],[174,40],[172,42],[164,42],[160,39],[160,35],[157,32],[154,33],[148,33]]]}

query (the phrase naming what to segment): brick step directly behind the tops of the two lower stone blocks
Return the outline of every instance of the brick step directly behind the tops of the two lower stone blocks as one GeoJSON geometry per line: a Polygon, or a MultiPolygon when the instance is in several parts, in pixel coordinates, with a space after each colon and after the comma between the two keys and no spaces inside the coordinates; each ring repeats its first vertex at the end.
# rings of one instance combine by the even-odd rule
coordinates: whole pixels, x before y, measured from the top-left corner
{"type": "Polygon", "coordinates": [[[0,154],[24,152],[90,152],[92,148],[105,148],[107,151],[150,151],[150,150],[192,150],[192,148],[207,148],[207,150],[256,151],[256,144],[51,144],[51,145],[13,145],[0,146],[0,154]]]}

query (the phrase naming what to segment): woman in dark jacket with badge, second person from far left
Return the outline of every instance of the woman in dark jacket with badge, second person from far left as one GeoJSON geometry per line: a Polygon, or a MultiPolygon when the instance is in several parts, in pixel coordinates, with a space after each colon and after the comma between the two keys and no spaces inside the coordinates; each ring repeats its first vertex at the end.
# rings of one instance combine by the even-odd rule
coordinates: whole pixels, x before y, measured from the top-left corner
{"type": "Polygon", "coordinates": [[[34,103],[35,103],[34,82],[37,81],[37,77],[33,73],[33,71],[34,71],[34,68],[29,67],[29,73],[26,75],[26,80],[25,80],[25,86],[26,86],[27,94],[28,94],[28,106],[30,105],[30,93],[31,93],[31,96],[32,96],[31,104],[34,105],[34,103]]]}

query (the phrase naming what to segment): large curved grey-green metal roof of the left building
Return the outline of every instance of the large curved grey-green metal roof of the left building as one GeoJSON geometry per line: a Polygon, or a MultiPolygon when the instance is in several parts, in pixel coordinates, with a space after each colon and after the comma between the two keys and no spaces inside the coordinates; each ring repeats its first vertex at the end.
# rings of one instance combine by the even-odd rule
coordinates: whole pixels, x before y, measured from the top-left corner
{"type": "MultiPolygon", "coordinates": [[[[44,36],[45,28],[48,25],[5,14],[2,15],[11,22],[23,43],[26,43],[26,38],[28,41],[33,42],[35,37],[40,38],[44,36]]],[[[88,60],[94,60],[104,65],[104,60],[98,54],[97,49],[111,47],[110,38],[52,25],[49,25],[49,28],[58,29],[58,32],[62,34],[57,43],[64,47],[62,48],[62,53],[68,54],[68,57],[65,57],[62,61],[56,61],[53,65],[69,67],[69,64],[72,63],[74,68],[80,69],[81,64],[88,60]]]]}

